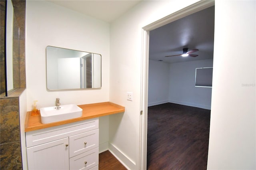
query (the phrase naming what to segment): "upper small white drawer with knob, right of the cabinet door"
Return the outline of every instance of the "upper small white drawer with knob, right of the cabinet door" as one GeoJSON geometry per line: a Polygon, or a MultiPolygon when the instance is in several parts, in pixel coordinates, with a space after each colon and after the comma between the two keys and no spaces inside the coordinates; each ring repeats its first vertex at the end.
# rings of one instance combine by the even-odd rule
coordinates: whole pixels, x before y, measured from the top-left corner
{"type": "Polygon", "coordinates": [[[69,157],[99,147],[99,129],[69,137],[69,157]]]}

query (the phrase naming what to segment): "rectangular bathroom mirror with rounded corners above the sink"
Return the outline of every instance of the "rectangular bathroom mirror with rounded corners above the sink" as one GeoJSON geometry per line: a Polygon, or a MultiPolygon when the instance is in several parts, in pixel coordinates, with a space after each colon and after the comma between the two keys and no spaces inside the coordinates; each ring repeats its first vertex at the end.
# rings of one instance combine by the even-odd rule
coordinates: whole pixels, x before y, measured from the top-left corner
{"type": "Polygon", "coordinates": [[[48,90],[101,87],[101,55],[60,47],[46,47],[48,90]]]}

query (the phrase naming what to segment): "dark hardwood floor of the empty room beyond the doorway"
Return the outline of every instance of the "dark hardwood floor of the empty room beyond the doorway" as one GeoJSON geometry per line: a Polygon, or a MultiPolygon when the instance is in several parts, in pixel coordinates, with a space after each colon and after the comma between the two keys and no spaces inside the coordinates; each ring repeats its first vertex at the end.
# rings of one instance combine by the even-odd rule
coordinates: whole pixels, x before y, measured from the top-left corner
{"type": "Polygon", "coordinates": [[[210,110],[165,103],[148,107],[148,170],[206,170],[210,110]]]}

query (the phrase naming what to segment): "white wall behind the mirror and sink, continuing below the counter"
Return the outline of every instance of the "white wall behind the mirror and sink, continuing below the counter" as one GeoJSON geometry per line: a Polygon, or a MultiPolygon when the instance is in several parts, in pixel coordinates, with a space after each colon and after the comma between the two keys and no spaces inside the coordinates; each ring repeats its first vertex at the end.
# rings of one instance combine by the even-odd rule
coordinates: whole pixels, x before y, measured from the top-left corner
{"type": "MultiPolygon", "coordinates": [[[[38,109],[60,103],[88,104],[109,101],[110,26],[46,1],[26,2],[26,96],[27,111],[34,100],[38,109]],[[46,46],[102,55],[102,88],[70,91],[46,90],[46,46]]],[[[108,117],[100,118],[100,144],[108,141],[108,117]]],[[[106,150],[100,146],[100,150],[106,150]]]]}

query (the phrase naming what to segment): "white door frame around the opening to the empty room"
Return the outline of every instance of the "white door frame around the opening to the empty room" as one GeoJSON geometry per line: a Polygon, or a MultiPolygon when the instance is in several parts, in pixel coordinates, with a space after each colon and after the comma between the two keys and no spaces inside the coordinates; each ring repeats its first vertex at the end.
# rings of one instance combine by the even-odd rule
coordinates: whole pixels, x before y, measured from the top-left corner
{"type": "Polygon", "coordinates": [[[149,33],[151,30],[174,22],[180,18],[214,6],[214,0],[201,0],[177,12],[174,12],[156,22],[142,28],[142,57],[141,57],[141,94],[140,94],[140,170],[147,168],[147,132],[148,132],[148,62],[149,62],[149,33]]]}

